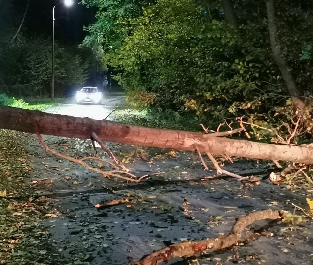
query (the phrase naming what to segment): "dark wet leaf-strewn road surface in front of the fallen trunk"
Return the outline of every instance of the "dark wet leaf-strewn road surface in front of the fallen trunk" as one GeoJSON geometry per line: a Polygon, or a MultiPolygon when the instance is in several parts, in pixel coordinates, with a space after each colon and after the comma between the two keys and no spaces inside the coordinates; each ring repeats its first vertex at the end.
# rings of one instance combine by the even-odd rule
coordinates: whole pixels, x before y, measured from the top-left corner
{"type": "MultiPolygon", "coordinates": [[[[60,113],[62,105],[58,107],[60,113]]],[[[236,218],[254,210],[271,208],[293,212],[291,203],[306,207],[305,199],[310,195],[301,191],[292,193],[268,180],[251,185],[225,176],[216,177],[209,162],[213,170],[204,171],[199,157],[188,152],[115,143],[107,145],[129,162],[126,166],[135,175],[164,174],[141,183],[104,179],[45,153],[34,135],[26,136],[25,146],[33,157],[32,180],[52,181],[49,186],[38,186],[38,195],[51,198],[54,213],[58,215],[45,221],[50,235],[46,258],[53,261],[52,264],[127,265],[182,240],[227,235],[236,218]],[[99,211],[94,208],[95,204],[126,197],[129,204],[99,211]]],[[[52,149],[71,156],[94,153],[90,141],[52,136],[44,139],[52,149]]],[[[234,164],[225,162],[224,168],[243,176],[263,177],[273,170],[273,165],[237,160],[234,164]]],[[[198,260],[180,258],[168,264],[313,264],[312,221],[306,219],[298,225],[262,221],[254,226],[255,229],[262,227],[266,227],[268,236],[240,246],[236,259],[232,250],[224,250],[208,252],[198,256],[198,260]]]]}

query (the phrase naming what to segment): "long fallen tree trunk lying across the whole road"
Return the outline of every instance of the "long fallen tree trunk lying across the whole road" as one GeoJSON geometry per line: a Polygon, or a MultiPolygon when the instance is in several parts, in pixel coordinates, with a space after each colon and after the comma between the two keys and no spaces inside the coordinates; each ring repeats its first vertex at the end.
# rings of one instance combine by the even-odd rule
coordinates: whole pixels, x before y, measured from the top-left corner
{"type": "Polygon", "coordinates": [[[0,106],[0,128],[80,139],[91,139],[91,134],[96,133],[101,140],[116,143],[313,164],[313,148],[309,147],[257,143],[5,106],[0,106]]]}

